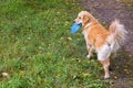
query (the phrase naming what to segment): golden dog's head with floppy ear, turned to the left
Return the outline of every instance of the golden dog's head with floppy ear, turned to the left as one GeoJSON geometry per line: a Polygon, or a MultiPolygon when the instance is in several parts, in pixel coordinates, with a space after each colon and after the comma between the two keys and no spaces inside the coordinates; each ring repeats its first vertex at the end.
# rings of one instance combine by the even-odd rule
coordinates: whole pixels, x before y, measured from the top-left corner
{"type": "Polygon", "coordinates": [[[91,21],[91,14],[88,11],[81,11],[78,18],[74,20],[76,24],[82,24],[84,26],[91,21]]]}

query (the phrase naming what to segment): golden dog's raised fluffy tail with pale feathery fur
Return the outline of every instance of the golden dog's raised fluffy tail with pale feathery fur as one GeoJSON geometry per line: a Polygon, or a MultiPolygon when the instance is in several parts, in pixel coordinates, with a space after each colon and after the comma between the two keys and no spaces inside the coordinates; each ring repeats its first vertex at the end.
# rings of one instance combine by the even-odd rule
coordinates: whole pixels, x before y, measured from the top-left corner
{"type": "Polygon", "coordinates": [[[125,43],[127,31],[119,20],[114,20],[109,30],[111,35],[108,41],[111,43],[113,52],[116,52],[125,43]]]}

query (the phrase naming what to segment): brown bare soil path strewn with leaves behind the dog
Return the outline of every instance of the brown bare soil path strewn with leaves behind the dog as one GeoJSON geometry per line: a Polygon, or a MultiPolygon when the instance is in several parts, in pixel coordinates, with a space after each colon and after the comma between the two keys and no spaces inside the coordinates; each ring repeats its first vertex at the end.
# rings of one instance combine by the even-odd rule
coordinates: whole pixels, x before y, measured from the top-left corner
{"type": "Polygon", "coordinates": [[[133,88],[133,0],[81,0],[81,6],[101,23],[110,25],[120,19],[125,25],[127,42],[113,61],[110,88],[133,88]]]}

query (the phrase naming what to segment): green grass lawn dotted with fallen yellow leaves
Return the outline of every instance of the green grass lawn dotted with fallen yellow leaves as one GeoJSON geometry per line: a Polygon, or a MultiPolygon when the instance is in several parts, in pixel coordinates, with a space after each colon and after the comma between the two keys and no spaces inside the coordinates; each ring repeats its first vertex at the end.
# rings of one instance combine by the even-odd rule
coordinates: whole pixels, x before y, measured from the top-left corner
{"type": "Polygon", "coordinates": [[[83,10],[76,2],[0,1],[0,88],[108,88],[102,65],[85,58],[81,31],[70,33],[83,10]]]}

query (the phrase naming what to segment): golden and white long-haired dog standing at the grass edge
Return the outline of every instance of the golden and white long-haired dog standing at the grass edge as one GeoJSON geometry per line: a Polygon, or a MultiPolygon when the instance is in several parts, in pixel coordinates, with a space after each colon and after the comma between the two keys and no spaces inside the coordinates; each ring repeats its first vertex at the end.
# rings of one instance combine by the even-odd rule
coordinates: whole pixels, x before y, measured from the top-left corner
{"type": "Polygon", "coordinates": [[[127,31],[119,20],[114,20],[109,30],[88,11],[81,11],[74,20],[75,24],[82,24],[82,33],[89,51],[88,58],[98,54],[98,59],[103,65],[104,78],[110,78],[109,66],[116,51],[125,43],[127,31]]]}

